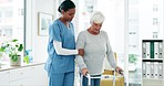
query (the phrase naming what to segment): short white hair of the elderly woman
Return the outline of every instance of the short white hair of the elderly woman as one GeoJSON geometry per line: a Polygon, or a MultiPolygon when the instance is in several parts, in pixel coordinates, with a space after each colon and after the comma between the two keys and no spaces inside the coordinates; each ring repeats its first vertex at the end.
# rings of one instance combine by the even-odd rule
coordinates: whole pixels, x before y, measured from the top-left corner
{"type": "Polygon", "coordinates": [[[104,20],[105,20],[105,17],[100,11],[95,11],[91,15],[91,23],[92,22],[94,22],[94,23],[103,23],[104,20]]]}

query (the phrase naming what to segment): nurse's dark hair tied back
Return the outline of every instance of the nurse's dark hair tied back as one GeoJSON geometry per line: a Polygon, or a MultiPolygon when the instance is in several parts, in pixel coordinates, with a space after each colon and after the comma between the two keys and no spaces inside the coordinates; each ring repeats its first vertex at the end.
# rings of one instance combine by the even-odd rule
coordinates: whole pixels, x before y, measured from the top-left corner
{"type": "Polygon", "coordinates": [[[62,10],[64,12],[69,11],[70,9],[74,9],[75,4],[71,0],[64,0],[58,8],[58,11],[61,12],[62,10]]]}

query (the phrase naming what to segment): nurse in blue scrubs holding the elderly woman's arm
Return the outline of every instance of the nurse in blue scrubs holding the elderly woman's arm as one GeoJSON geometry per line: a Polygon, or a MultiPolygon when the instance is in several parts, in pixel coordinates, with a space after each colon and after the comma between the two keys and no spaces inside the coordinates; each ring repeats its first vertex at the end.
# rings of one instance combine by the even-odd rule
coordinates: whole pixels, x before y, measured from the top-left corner
{"type": "Polygon", "coordinates": [[[61,17],[49,28],[49,57],[44,68],[48,72],[49,86],[73,86],[74,57],[84,54],[82,49],[75,50],[74,26],[71,23],[75,14],[75,4],[65,0],[58,11],[61,17]]]}

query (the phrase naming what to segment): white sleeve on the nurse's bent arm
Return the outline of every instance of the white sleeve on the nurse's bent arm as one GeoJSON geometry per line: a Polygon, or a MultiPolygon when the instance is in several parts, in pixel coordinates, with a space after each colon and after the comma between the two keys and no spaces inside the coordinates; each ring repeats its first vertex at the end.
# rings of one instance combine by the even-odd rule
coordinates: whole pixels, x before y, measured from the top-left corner
{"type": "Polygon", "coordinates": [[[58,55],[76,55],[78,50],[68,50],[62,47],[62,43],[59,41],[53,41],[53,46],[58,55]]]}

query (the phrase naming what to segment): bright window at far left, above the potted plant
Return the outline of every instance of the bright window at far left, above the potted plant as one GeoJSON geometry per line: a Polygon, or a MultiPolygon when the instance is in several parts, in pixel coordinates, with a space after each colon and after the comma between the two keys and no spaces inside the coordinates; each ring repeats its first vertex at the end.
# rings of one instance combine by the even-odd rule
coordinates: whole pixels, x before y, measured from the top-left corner
{"type": "Polygon", "coordinates": [[[23,11],[24,0],[0,0],[0,43],[12,39],[23,43],[23,11]]]}

